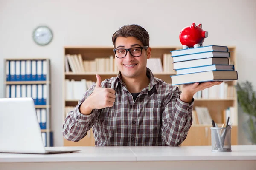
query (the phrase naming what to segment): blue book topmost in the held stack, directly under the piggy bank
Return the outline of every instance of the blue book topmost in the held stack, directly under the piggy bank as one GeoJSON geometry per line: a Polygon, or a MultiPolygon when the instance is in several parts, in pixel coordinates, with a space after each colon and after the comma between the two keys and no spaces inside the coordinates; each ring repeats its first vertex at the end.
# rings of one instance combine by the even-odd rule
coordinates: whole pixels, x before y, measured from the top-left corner
{"type": "Polygon", "coordinates": [[[202,47],[197,47],[197,48],[173,50],[170,52],[172,53],[172,57],[174,57],[174,56],[181,56],[181,55],[186,55],[186,54],[194,54],[194,53],[201,53],[201,52],[208,52],[208,51],[228,52],[228,48],[227,48],[227,46],[208,45],[208,46],[202,46],[202,47]]]}

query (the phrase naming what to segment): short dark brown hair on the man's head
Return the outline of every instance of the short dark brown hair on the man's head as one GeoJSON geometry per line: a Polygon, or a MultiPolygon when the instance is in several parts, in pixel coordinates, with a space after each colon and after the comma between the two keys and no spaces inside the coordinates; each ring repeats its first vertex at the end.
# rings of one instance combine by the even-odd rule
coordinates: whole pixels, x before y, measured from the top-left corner
{"type": "Polygon", "coordinates": [[[117,37],[135,37],[137,40],[140,40],[144,46],[149,47],[149,34],[148,31],[145,30],[140,25],[131,24],[125,25],[119,28],[112,36],[113,45],[116,48],[116,38],[117,37]]]}

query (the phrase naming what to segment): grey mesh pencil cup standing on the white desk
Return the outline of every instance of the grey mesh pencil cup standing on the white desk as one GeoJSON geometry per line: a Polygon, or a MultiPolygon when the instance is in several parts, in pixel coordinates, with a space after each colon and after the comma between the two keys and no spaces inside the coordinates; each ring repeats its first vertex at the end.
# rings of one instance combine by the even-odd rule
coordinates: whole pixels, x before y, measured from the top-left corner
{"type": "Polygon", "coordinates": [[[231,152],[231,127],[211,127],[212,152],[231,152]]]}

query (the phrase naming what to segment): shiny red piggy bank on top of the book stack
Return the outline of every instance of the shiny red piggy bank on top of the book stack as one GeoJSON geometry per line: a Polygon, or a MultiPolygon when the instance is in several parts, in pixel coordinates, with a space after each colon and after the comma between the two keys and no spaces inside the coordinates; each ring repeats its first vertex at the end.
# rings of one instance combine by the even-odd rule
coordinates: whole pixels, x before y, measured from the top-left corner
{"type": "Polygon", "coordinates": [[[180,31],[180,42],[182,49],[196,48],[203,45],[204,38],[208,37],[208,32],[202,29],[202,24],[198,26],[195,23],[189,27],[185,27],[180,31]]]}

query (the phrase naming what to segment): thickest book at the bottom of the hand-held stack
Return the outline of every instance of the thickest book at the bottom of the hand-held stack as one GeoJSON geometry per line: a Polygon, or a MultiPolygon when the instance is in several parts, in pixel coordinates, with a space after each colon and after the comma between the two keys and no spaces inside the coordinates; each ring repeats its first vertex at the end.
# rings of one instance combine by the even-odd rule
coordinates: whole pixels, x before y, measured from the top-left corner
{"type": "Polygon", "coordinates": [[[191,84],[195,82],[237,80],[237,71],[204,71],[170,76],[172,85],[191,84]]]}

